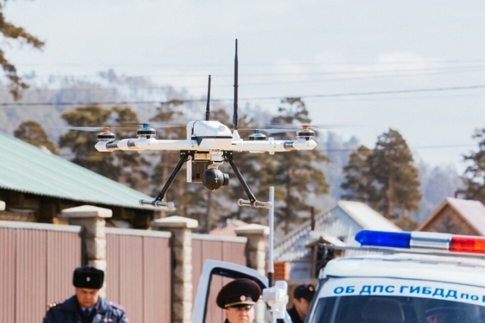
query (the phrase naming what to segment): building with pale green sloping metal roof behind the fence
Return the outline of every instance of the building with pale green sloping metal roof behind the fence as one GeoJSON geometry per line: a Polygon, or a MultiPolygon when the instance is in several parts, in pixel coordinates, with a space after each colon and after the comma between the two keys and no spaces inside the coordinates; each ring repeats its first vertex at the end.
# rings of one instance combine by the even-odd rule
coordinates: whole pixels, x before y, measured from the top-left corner
{"type": "Polygon", "coordinates": [[[139,205],[146,194],[5,133],[0,142],[0,220],[62,223],[62,209],[84,204],[112,209],[113,227],[146,229],[160,217],[139,205]]]}

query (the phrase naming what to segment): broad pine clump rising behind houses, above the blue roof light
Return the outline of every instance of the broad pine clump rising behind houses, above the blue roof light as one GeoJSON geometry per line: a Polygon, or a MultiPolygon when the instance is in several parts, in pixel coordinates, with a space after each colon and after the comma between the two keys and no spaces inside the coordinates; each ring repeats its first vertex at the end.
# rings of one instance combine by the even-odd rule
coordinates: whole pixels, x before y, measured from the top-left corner
{"type": "Polygon", "coordinates": [[[421,199],[413,161],[404,138],[390,129],[378,137],[372,151],[361,146],[351,154],[344,168],[346,182],[342,187],[348,191],[343,197],[366,202],[387,219],[413,227],[409,211],[417,210],[421,199]]]}

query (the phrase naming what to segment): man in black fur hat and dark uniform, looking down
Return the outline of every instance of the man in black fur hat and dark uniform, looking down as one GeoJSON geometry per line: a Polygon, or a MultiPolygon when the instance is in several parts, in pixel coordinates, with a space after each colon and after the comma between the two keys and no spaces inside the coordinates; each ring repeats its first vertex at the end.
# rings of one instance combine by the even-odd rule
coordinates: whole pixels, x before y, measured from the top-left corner
{"type": "Polygon", "coordinates": [[[99,295],[105,273],[94,267],[74,270],[72,283],[76,294],[62,303],[50,304],[43,323],[128,323],[126,313],[118,304],[99,295]]]}

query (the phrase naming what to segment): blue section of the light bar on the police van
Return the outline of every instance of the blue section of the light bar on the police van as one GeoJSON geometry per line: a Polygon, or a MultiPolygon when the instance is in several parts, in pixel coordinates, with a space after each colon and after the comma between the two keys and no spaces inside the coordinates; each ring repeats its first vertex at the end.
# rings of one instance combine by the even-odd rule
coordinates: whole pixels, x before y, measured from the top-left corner
{"type": "Polygon", "coordinates": [[[361,230],[355,240],[367,246],[410,248],[411,233],[361,230]]]}

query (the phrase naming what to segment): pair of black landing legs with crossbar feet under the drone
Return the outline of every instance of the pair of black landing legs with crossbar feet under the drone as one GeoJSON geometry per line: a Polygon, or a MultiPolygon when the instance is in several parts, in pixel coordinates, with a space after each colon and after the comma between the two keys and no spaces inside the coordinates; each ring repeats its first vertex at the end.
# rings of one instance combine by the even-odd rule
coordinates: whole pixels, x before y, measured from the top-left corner
{"type": "MultiPolygon", "coordinates": [[[[170,185],[172,185],[172,183],[173,183],[175,177],[177,176],[178,172],[182,168],[183,164],[191,156],[193,156],[193,151],[186,151],[186,150],[180,151],[180,159],[179,159],[177,165],[175,166],[175,168],[173,169],[172,173],[170,174],[167,182],[163,186],[162,190],[157,195],[157,197],[153,201],[141,199],[139,201],[139,203],[141,205],[152,205],[152,206],[155,206],[155,207],[166,208],[168,210],[174,210],[175,205],[174,205],[173,202],[163,202],[162,200],[165,197],[165,194],[167,193],[168,189],[170,188],[170,185]]],[[[236,164],[232,160],[232,151],[224,151],[223,156],[224,156],[224,160],[227,161],[229,163],[229,165],[231,166],[234,174],[237,177],[237,180],[239,181],[239,184],[243,187],[244,191],[246,192],[246,194],[248,195],[248,198],[249,198],[248,200],[245,200],[245,199],[242,199],[242,198],[239,199],[237,201],[237,205],[239,205],[239,206],[252,206],[252,207],[255,207],[255,208],[267,208],[267,209],[272,208],[273,203],[258,201],[256,199],[256,197],[254,196],[253,192],[251,192],[251,189],[249,188],[248,183],[246,183],[246,181],[243,178],[243,175],[241,174],[241,172],[237,168],[236,164]]]]}

